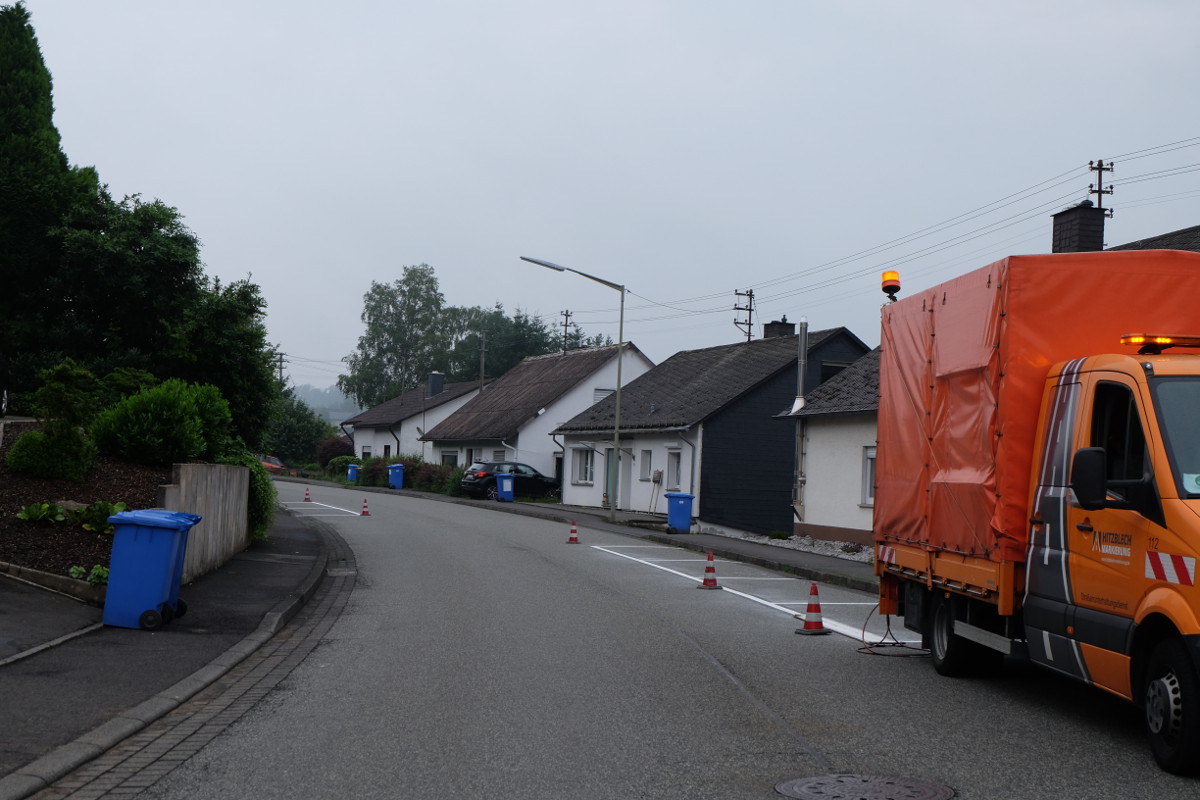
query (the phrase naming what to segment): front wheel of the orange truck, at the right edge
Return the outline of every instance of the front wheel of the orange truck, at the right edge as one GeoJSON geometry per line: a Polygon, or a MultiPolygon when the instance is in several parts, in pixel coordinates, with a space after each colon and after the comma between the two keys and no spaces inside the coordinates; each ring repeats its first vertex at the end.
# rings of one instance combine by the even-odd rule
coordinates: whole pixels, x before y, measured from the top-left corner
{"type": "Polygon", "coordinates": [[[1178,639],[1159,642],[1146,667],[1142,702],[1154,760],[1168,772],[1200,770],[1200,686],[1178,639]]]}

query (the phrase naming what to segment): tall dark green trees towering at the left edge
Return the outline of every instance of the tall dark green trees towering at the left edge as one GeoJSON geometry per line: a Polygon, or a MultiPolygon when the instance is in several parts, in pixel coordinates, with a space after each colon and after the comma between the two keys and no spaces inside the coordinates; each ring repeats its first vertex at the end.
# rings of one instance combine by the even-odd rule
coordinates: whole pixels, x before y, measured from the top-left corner
{"type": "Polygon", "coordinates": [[[319,435],[298,440],[320,421],[272,372],[259,287],[208,277],[176,209],[116,199],[95,168],[71,166],[53,114],[29,11],[0,6],[0,371],[13,410],[47,410],[36,390],[56,365],[108,386],[139,375],[130,391],[176,379],[215,387],[247,449],[311,461],[319,435]]]}

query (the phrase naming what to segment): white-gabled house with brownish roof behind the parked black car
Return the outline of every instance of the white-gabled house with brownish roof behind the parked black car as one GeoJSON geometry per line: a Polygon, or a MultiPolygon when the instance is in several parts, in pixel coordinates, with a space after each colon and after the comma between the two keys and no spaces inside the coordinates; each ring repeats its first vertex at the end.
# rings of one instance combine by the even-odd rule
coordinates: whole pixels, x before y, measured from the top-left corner
{"type": "MultiPolygon", "coordinates": [[[[654,366],[631,342],[620,348],[622,383],[654,366]]],[[[563,449],[551,432],[617,389],[618,345],[529,356],[427,429],[443,462],[517,461],[562,477],[563,449]]]]}

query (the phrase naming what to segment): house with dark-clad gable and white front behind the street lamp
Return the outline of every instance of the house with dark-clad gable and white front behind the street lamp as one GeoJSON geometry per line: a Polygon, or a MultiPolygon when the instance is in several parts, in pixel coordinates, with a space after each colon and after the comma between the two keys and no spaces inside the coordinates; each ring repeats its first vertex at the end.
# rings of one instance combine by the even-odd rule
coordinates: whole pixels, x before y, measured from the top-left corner
{"type": "MultiPolygon", "coordinates": [[[[665,513],[668,492],[694,495],[703,524],[760,534],[792,530],[793,427],[776,419],[796,396],[799,337],[786,319],[768,337],[677,353],[624,386],[616,506],[665,513]]],[[[809,336],[809,385],[868,347],[845,327],[809,336]]],[[[559,425],[563,503],[605,507],[616,470],[616,398],[559,425]]]]}

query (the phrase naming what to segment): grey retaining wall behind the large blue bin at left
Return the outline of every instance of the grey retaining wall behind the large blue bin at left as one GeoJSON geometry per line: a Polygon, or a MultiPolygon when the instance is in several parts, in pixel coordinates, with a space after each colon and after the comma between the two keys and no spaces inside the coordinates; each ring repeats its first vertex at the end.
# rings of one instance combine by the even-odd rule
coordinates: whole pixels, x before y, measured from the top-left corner
{"type": "Polygon", "coordinates": [[[229,464],[175,464],[158,487],[158,507],[203,517],[187,537],[184,583],[211,572],[250,546],[246,521],[250,469],[229,464]]]}

